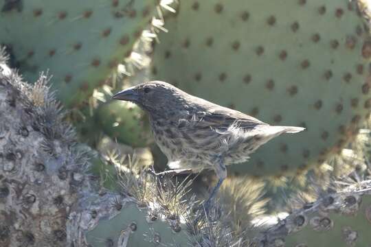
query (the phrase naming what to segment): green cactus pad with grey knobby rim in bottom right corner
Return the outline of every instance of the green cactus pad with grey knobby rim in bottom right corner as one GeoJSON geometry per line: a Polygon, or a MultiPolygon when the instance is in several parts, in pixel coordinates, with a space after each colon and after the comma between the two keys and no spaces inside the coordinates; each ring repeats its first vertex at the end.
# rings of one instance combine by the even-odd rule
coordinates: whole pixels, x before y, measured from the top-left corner
{"type": "Polygon", "coordinates": [[[256,239],[256,246],[370,246],[371,180],[304,204],[256,239]]]}

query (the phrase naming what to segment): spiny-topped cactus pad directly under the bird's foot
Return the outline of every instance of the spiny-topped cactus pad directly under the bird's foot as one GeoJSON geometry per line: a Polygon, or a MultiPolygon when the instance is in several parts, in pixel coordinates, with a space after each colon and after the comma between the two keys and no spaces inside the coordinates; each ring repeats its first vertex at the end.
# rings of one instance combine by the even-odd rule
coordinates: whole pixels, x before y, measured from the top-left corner
{"type": "MultiPolygon", "coordinates": [[[[218,204],[212,204],[207,213],[200,208],[199,202],[189,194],[192,180],[155,177],[133,165],[124,165],[117,154],[108,154],[106,161],[120,167],[117,172],[122,191],[120,194],[102,191],[88,200],[80,200],[67,223],[69,243],[77,246],[233,246],[246,241],[242,234],[231,230],[229,218],[224,217],[218,204]]],[[[260,204],[256,209],[259,207],[260,204]]],[[[254,212],[247,212],[247,217],[252,214],[254,212]]]]}

